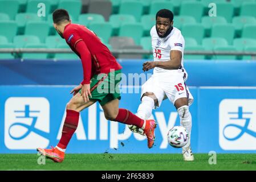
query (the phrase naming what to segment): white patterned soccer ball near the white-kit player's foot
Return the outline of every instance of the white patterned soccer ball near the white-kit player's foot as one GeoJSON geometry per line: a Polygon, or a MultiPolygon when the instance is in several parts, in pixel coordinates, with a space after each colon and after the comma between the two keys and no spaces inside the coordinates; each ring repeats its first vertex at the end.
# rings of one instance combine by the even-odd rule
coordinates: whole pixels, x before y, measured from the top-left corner
{"type": "Polygon", "coordinates": [[[188,131],[183,126],[174,126],[168,131],[168,143],[175,148],[181,148],[188,143],[188,131]]]}

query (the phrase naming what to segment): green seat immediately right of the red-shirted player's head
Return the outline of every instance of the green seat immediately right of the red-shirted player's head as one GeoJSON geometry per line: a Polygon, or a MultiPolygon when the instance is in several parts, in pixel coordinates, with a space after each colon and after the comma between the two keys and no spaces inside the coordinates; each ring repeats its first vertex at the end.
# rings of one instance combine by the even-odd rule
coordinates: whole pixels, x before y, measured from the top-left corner
{"type": "Polygon", "coordinates": [[[78,18],[78,23],[84,26],[89,26],[90,23],[104,23],[105,19],[100,14],[81,14],[78,18]]]}

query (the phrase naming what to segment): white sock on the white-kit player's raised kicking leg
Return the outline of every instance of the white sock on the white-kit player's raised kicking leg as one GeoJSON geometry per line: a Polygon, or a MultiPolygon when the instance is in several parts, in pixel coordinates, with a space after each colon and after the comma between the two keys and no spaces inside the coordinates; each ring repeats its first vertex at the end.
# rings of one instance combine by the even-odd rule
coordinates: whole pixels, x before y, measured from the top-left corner
{"type": "Polygon", "coordinates": [[[155,102],[153,98],[144,96],[141,99],[141,104],[138,107],[137,114],[136,114],[137,117],[147,120],[151,116],[152,110],[154,107],[155,107],[155,102]]]}

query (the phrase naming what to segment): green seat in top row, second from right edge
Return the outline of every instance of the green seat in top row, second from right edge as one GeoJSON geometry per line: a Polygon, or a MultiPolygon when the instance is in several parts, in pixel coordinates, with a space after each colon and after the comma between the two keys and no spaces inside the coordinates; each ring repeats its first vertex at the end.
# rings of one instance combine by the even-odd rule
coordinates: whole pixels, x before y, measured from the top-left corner
{"type": "Polygon", "coordinates": [[[234,5],[228,2],[216,3],[217,17],[222,16],[227,20],[227,23],[231,23],[231,19],[234,15],[234,5]]]}

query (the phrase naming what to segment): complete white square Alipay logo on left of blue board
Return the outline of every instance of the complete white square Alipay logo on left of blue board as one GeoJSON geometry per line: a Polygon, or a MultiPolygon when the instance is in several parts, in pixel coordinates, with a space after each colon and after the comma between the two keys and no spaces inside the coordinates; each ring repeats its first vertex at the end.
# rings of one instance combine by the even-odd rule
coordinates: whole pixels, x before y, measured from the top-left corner
{"type": "Polygon", "coordinates": [[[15,150],[47,147],[50,104],[44,97],[10,97],[5,102],[5,146],[15,150]]]}

